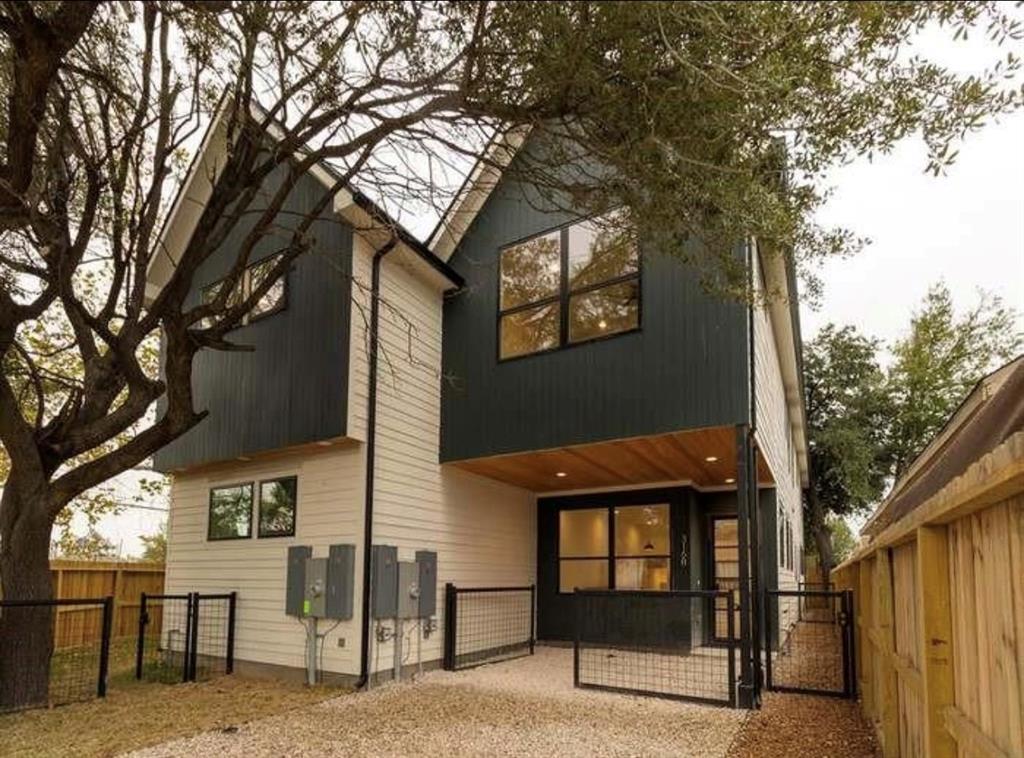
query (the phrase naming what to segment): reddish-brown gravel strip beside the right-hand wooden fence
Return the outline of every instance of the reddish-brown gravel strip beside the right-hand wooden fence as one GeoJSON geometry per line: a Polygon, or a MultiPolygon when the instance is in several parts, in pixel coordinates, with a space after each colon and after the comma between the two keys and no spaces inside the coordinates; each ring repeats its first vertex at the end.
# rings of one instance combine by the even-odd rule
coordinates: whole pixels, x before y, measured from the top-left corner
{"type": "Polygon", "coordinates": [[[743,724],[729,758],[797,755],[874,758],[882,753],[858,704],[766,692],[761,710],[743,724]]]}

